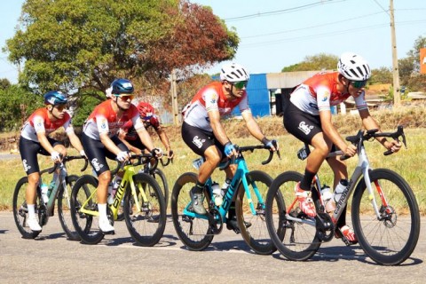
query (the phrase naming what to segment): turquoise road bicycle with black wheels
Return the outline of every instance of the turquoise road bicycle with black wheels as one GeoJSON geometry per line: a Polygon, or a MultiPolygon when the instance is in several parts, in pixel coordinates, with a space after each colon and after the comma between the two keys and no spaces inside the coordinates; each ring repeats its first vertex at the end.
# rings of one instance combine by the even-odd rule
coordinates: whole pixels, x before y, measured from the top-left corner
{"type": "MultiPolygon", "coordinates": [[[[236,172],[219,206],[215,204],[212,193],[214,182],[209,177],[204,188],[203,201],[204,207],[208,209],[207,215],[196,214],[191,205],[189,191],[197,182],[197,174],[186,172],[177,178],[171,195],[171,215],[177,235],[186,248],[190,250],[207,248],[213,237],[222,232],[227,220],[226,214],[231,202],[235,200],[235,213],[239,227],[236,233],[241,232],[244,241],[258,254],[271,254],[275,250],[264,221],[264,198],[269,185],[272,184],[272,177],[260,170],[248,171],[247,163],[242,155],[243,152],[253,152],[255,149],[269,151],[268,159],[262,164],[271,162],[273,152],[267,146],[238,147],[238,155],[233,161],[237,165],[236,172]]],[[[224,170],[230,161],[220,164],[220,169],[224,170]]]]}

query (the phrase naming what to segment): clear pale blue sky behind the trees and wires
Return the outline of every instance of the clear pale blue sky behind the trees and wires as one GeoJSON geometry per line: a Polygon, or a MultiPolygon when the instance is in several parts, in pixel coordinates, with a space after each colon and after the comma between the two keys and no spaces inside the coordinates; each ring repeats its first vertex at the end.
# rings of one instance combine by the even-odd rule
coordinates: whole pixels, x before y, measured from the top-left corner
{"type": "MultiPolygon", "coordinates": [[[[391,67],[389,0],[196,0],[235,28],[233,61],[250,73],[280,72],[306,56],[355,51],[372,68],[391,67]]],[[[0,46],[15,33],[24,0],[1,1],[0,46]]],[[[394,0],[398,59],[426,37],[426,1],[394,0]]],[[[219,64],[220,65],[220,64],[219,64]]],[[[217,73],[219,65],[206,72],[217,73]]],[[[0,53],[0,78],[17,82],[18,68],[0,53]]]]}

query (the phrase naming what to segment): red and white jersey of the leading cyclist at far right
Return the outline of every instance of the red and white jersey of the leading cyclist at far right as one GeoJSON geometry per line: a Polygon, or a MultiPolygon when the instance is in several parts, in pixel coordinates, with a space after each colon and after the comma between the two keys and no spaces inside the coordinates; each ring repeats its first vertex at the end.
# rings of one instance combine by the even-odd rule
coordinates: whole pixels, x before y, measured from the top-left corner
{"type": "MultiPolygon", "coordinates": [[[[337,91],[338,72],[318,73],[297,86],[291,93],[290,101],[308,114],[319,115],[320,111],[329,111],[330,106],[337,106],[351,97],[349,93],[337,91]]],[[[355,99],[359,110],[367,108],[365,93],[355,99]]]]}

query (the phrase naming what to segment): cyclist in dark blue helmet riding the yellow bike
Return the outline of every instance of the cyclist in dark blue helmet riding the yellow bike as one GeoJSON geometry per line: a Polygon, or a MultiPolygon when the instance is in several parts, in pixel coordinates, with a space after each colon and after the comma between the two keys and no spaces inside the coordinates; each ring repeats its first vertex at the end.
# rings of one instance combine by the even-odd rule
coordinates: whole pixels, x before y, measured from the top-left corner
{"type": "MultiPolygon", "coordinates": [[[[132,105],[133,84],[127,79],[116,79],[111,84],[112,99],[95,107],[83,126],[83,147],[98,175],[99,229],[103,233],[114,233],[114,227],[106,216],[107,187],[111,181],[111,171],[106,157],[120,162],[129,160],[129,149],[116,136],[125,122],[132,121],[138,137],[149,151],[154,150],[153,140],[139,117],[138,109],[132,105]]],[[[161,156],[161,151],[157,151],[161,156]]]]}

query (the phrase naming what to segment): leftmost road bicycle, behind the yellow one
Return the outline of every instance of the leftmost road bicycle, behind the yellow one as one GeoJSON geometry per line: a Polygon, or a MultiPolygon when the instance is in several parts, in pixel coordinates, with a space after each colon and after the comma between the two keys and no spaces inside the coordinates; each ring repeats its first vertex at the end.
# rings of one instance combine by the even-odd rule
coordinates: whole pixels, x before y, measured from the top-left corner
{"type": "MultiPolygon", "coordinates": [[[[84,156],[66,156],[62,159],[62,162],[55,163],[53,167],[40,171],[40,181],[36,187],[36,215],[38,216],[39,225],[47,224],[49,217],[54,216],[55,211],[55,202],[58,200],[58,216],[59,222],[64,232],[67,234],[69,240],[78,241],[79,236],[75,233],[74,227],[71,223],[70,215],[70,194],[71,188],[75,184],[75,181],[78,179],[78,176],[67,174],[66,163],[75,159],[85,159],[84,156]],[[53,173],[53,179],[51,182],[49,201],[44,202],[41,193],[41,185],[43,174],[53,173]]],[[[84,163],[83,169],[86,170],[88,165],[87,160],[84,163]]],[[[33,232],[27,224],[28,220],[28,208],[26,201],[26,191],[28,186],[28,177],[21,177],[18,183],[15,186],[15,191],[13,193],[13,217],[15,219],[15,224],[20,230],[22,237],[24,239],[35,239],[36,236],[41,232],[33,232]]]]}

